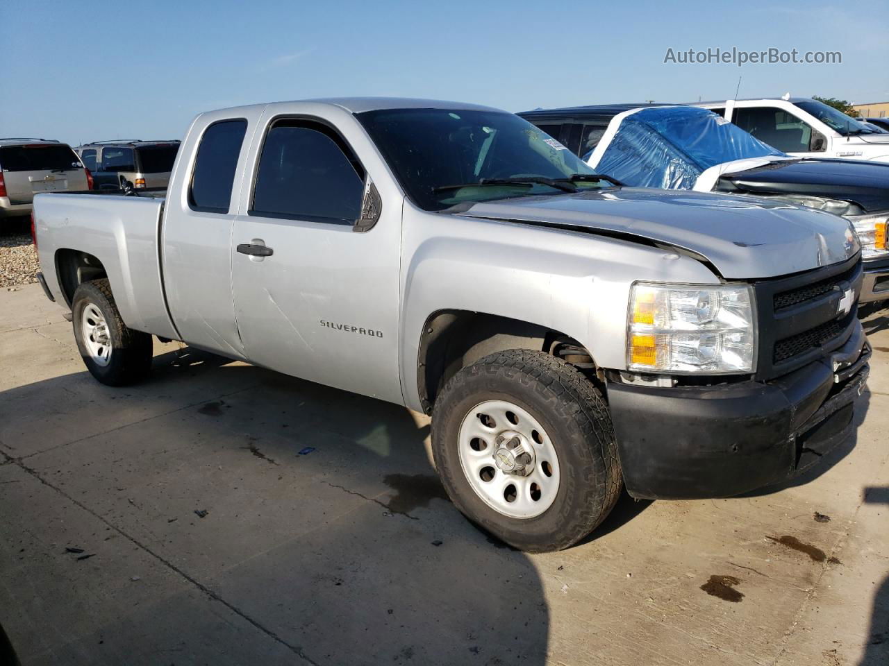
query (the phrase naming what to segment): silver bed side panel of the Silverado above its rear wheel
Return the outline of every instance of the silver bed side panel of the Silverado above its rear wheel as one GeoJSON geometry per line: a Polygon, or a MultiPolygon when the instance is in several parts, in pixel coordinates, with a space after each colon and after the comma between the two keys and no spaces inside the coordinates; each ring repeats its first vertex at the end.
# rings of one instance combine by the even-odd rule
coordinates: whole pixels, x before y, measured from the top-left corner
{"type": "Polygon", "coordinates": [[[56,302],[71,304],[73,289],[63,277],[71,259],[84,252],[100,261],[128,327],[177,337],[157,250],[163,210],[161,198],[38,194],[34,216],[40,265],[56,302]]]}

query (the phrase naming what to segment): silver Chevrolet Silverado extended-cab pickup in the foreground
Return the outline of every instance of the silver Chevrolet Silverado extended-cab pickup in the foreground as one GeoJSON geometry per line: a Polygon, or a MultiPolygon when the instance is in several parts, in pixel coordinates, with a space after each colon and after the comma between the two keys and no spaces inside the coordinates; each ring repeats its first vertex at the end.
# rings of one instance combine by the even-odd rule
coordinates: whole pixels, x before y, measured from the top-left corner
{"type": "Polygon", "coordinates": [[[198,115],[167,196],[40,194],[47,295],[100,382],[152,335],[432,415],[469,519],[565,548],[631,496],[733,496],[853,429],[848,222],[622,187],[516,115],[327,99],[198,115]]]}

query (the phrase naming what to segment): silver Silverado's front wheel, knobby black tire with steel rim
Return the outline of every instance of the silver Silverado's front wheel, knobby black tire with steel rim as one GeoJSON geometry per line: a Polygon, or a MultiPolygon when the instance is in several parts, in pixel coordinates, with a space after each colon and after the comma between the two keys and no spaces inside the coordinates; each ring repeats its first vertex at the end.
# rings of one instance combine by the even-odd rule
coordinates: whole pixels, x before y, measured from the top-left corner
{"type": "Polygon", "coordinates": [[[432,450],[457,508],[523,551],[577,543],[621,489],[602,394],[546,353],[509,350],[461,369],[436,399],[432,450]]]}

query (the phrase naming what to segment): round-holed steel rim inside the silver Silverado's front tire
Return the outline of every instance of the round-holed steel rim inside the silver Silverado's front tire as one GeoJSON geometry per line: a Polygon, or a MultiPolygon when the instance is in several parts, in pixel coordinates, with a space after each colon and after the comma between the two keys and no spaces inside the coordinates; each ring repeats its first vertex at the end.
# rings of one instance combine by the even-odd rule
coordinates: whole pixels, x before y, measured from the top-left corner
{"type": "Polygon", "coordinates": [[[506,400],[486,400],[463,417],[458,442],[469,486],[510,518],[549,509],[559,487],[556,449],[541,424],[506,400]]]}

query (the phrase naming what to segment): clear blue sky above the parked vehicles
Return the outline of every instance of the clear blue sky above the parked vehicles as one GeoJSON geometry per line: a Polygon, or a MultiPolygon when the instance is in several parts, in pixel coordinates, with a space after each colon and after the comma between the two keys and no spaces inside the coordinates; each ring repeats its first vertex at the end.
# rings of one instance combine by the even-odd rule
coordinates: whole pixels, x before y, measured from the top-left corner
{"type": "Polygon", "coordinates": [[[198,112],[396,95],[510,111],[734,96],[889,100],[889,0],[0,0],[0,136],[176,139],[198,112]],[[720,47],[842,64],[665,64],[720,47]]]}

